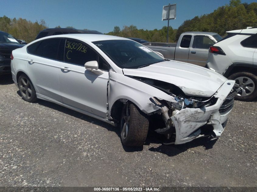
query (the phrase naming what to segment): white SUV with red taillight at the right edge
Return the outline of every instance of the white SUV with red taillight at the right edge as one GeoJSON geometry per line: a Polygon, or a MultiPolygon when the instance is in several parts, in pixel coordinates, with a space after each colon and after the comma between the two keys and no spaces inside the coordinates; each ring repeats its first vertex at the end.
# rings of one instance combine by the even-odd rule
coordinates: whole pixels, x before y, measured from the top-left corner
{"type": "Polygon", "coordinates": [[[257,28],[227,33],[210,47],[207,67],[236,81],[236,99],[252,100],[257,96],[257,28]]]}

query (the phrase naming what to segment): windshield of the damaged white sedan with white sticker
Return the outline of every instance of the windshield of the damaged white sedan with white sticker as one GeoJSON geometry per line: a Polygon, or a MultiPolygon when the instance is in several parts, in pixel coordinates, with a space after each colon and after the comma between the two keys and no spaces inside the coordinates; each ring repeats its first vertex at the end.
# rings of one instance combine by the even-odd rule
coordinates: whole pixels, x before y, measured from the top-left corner
{"type": "Polygon", "coordinates": [[[122,69],[137,69],[165,61],[152,50],[134,41],[105,40],[93,43],[122,69]]]}

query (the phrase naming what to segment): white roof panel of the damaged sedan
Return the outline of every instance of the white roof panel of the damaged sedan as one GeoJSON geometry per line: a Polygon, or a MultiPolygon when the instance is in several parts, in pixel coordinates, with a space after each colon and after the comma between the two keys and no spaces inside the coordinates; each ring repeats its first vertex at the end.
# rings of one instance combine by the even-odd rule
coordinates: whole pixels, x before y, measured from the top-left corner
{"type": "Polygon", "coordinates": [[[128,40],[128,41],[132,41],[132,40],[124,38],[124,37],[117,37],[117,36],[113,36],[113,35],[85,34],[85,33],[51,35],[51,36],[43,37],[40,40],[49,39],[49,38],[57,38],[57,37],[75,38],[75,39],[79,38],[79,39],[85,39],[86,41],[89,41],[89,42],[105,41],[105,40],[128,40]]]}

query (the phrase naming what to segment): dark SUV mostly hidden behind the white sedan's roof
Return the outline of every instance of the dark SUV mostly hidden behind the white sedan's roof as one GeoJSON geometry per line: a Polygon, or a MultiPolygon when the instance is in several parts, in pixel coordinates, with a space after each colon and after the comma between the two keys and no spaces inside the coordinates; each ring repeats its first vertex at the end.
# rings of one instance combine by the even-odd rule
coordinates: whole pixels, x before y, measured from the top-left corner
{"type": "MultiPolygon", "coordinates": [[[[71,33],[92,33],[92,34],[102,34],[99,31],[95,30],[80,30],[80,29],[68,29],[68,28],[49,28],[40,31],[36,36],[36,39],[40,39],[42,37],[50,36],[50,35],[62,35],[62,34],[71,34],[71,33]]],[[[35,39],[35,40],[36,40],[35,39]]]]}

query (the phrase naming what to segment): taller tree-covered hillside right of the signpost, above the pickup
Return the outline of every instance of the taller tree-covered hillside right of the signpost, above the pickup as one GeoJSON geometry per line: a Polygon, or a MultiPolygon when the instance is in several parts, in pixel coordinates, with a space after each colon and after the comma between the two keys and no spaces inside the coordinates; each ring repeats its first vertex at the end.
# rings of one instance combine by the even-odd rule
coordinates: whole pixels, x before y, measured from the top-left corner
{"type": "Polygon", "coordinates": [[[241,3],[240,0],[231,0],[229,5],[224,5],[214,12],[193,19],[186,20],[179,26],[176,40],[182,32],[204,31],[215,32],[221,36],[226,31],[257,27],[257,3],[241,3]]]}

